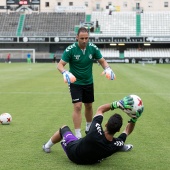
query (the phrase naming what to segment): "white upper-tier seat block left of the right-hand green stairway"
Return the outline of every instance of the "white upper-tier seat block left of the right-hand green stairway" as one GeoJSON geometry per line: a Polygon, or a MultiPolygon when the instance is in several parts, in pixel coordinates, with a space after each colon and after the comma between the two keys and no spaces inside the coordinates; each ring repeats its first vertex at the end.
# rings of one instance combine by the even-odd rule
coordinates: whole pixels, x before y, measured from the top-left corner
{"type": "Polygon", "coordinates": [[[103,35],[136,36],[136,12],[92,12],[91,21],[98,21],[103,35]]]}

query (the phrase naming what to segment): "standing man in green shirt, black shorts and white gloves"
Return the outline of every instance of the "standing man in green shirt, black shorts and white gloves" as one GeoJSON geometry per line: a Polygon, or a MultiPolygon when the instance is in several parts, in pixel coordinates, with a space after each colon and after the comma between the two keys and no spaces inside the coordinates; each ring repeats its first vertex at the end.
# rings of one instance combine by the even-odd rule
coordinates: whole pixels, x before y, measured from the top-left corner
{"type": "Polygon", "coordinates": [[[103,67],[104,71],[102,74],[106,74],[108,79],[114,80],[116,77],[106,60],[102,57],[98,47],[88,42],[89,33],[86,28],[79,28],[76,39],[77,42],[68,46],[64,51],[57,68],[63,74],[64,81],[70,87],[75,136],[81,138],[82,103],[85,106],[86,132],[89,131],[93,118],[94,85],[92,66],[94,59],[103,67]],[[64,68],[67,63],[69,63],[69,71],[64,68]]]}

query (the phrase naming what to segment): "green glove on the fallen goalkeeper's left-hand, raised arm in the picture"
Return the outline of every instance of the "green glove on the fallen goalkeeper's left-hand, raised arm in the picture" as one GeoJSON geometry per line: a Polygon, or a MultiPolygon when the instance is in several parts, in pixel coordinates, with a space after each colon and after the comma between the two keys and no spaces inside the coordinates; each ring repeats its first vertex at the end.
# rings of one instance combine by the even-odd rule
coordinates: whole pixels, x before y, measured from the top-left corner
{"type": "Polygon", "coordinates": [[[117,108],[120,108],[122,110],[132,109],[133,103],[134,103],[133,98],[130,96],[126,96],[122,100],[113,102],[111,104],[111,109],[112,110],[117,108]]]}

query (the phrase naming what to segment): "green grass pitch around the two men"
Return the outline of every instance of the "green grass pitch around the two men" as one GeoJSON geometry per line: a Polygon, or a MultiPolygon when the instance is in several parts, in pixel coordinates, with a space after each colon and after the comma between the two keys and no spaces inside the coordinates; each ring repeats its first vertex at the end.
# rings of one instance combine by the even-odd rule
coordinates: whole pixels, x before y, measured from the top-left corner
{"type": "MultiPolygon", "coordinates": [[[[145,106],[134,132],[126,143],[134,149],[116,153],[101,164],[80,166],[70,162],[60,144],[50,154],[44,144],[58,128],[73,129],[72,103],[67,85],[55,64],[0,63],[0,113],[8,112],[13,121],[0,125],[0,169],[3,170],[167,170],[170,160],[170,65],[110,64],[116,81],[100,76],[94,64],[94,112],[104,103],[128,94],[139,95],[145,106]]],[[[122,131],[129,119],[124,119],[122,131]]],[[[104,123],[112,114],[105,114],[104,123]]],[[[83,117],[82,132],[85,130],[83,117]]],[[[118,135],[118,134],[117,134],[118,135]]]]}

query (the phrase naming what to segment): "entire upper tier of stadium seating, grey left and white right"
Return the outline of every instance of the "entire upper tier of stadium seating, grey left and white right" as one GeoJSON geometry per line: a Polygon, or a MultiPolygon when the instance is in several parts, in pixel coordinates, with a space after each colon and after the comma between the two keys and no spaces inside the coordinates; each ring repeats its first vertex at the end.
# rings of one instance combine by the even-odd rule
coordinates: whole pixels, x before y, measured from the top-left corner
{"type": "MultiPolygon", "coordinates": [[[[81,12],[0,13],[1,36],[74,36],[75,26],[85,22],[81,12]],[[21,18],[23,17],[23,18],[21,18]]],[[[100,26],[103,36],[167,36],[170,35],[170,12],[92,12],[91,22],[100,26]]]]}

